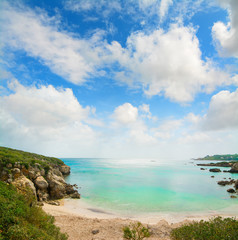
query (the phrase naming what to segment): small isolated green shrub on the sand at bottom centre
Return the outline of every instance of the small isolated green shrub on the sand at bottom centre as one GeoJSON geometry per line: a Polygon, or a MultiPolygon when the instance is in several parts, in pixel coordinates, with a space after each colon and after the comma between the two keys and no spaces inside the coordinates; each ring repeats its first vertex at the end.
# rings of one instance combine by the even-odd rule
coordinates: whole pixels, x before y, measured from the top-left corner
{"type": "Polygon", "coordinates": [[[124,239],[142,240],[150,237],[149,229],[144,227],[140,222],[132,224],[130,227],[124,227],[124,239]]]}

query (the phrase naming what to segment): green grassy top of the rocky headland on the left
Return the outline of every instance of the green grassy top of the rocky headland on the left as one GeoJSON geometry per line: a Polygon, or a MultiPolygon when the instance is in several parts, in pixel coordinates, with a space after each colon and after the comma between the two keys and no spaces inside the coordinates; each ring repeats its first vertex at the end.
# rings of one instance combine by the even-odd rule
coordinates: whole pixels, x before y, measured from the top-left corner
{"type": "Polygon", "coordinates": [[[35,153],[24,152],[16,149],[0,147],[0,168],[5,167],[8,163],[14,164],[19,162],[28,169],[29,165],[39,163],[43,168],[49,165],[62,165],[62,160],[54,157],[45,157],[35,153]]]}

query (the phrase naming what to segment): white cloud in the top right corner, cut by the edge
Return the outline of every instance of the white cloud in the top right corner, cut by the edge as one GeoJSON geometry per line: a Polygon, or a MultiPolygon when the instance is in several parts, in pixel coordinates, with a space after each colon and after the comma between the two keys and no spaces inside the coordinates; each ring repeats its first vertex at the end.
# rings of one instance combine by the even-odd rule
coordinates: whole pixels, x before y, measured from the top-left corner
{"type": "Polygon", "coordinates": [[[238,58],[238,1],[219,0],[228,10],[230,21],[227,24],[216,22],[212,36],[221,56],[238,58]]]}

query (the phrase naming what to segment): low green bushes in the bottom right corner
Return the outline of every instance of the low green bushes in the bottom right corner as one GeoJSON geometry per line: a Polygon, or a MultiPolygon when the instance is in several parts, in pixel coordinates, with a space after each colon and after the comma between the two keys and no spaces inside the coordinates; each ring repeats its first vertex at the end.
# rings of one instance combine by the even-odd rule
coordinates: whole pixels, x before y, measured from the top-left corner
{"type": "Polygon", "coordinates": [[[237,240],[238,221],[234,218],[216,217],[173,229],[173,240],[237,240]]]}

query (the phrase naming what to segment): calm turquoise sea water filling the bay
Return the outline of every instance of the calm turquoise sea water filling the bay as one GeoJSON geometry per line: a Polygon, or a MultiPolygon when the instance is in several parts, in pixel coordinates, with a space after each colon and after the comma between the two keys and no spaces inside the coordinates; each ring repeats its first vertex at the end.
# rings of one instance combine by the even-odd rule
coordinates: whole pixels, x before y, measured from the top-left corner
{"type": "Polygon", "coordinates": [[[201,171],[195,166],[197,161],[62,160],[71,167],[66,181],[76,183],[82,198],[95,207],[126,213],[176,213],[219,211],[233,206],[238,213],[238,200],[230,198],[228,187],[217,184],[223,178],[238,179],[238,174],[201,171]]]}

